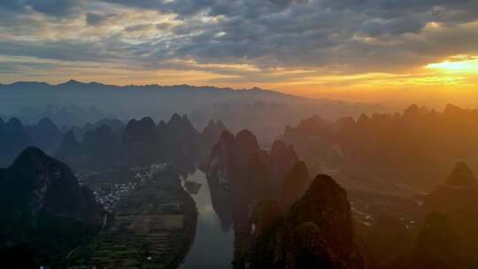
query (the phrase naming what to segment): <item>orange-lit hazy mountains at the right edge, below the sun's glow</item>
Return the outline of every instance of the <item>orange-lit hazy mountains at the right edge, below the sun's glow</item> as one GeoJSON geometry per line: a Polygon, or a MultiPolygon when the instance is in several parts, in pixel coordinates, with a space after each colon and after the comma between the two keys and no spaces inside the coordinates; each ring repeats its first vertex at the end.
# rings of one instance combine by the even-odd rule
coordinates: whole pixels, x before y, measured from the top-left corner
{"type": "Polygon", "coordinates": [[[357,120],[313,116],[286,127],[282,140],[295,146],[312,172],[335,173],[339,181],[349,180],[347,188],[367,183],[374,186],[367,191],[430,190],[457,160],[478,169],[478,110],[412,105],[403,113],[357,120]]]}

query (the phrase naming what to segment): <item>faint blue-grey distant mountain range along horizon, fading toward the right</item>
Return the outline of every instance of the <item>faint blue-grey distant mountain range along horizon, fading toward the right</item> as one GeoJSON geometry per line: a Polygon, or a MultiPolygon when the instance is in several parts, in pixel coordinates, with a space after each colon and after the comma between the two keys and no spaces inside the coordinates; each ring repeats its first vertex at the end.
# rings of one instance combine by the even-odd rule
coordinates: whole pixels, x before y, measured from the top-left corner
{"type": "Polygon", "coordinates": [[[311,114],[333,118],[383,111],[374,104],[291,96],[261,88],[233,89],[212,86],[114,86],[67,81],[0,84],[0,115],[28,124],[48,117],[62,127],[99,119],[151,117],[159,121],[173,113],[188,114],[197,127],[209,119],[227,122],[233,131],[249,128],[258,136],[279,134],[281,128],[311,114]]]}

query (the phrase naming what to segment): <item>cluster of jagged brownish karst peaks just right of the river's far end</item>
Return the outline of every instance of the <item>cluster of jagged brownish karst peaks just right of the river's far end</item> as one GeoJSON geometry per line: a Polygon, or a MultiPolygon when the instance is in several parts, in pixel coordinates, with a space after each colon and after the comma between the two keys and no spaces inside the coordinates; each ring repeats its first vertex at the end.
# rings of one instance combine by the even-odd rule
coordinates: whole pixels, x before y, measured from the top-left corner
{"type": "Polygon", "coordinates": [[[284,142],[276,141],[266,151],[249,130],[237,135],[224,131],[202,168],[210,181],[247,203],[249,199],[279,196],[286,175],[296,163],[294,148],[284,142]]]}

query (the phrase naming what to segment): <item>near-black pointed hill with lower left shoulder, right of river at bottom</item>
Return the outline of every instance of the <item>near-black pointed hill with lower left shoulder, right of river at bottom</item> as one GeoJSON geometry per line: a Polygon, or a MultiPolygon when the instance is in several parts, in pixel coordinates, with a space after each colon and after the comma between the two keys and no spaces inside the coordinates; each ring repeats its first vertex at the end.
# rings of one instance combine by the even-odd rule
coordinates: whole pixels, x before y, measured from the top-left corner
{"type": "Polygon", "coordinates": [[[253,227],[250,268],[370,268],[355,242],[347,194],[327,175],[318,175],[289,211],[258,204],[253,227]]]}

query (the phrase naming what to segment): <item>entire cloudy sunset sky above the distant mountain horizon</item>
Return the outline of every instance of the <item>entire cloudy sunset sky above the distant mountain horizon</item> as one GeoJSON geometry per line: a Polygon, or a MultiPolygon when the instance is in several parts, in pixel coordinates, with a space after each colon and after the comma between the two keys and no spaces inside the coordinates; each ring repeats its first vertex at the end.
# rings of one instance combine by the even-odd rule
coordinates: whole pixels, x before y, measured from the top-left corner
{"type": "Polygon", "coordinates": [[[478,0],[1,0],[0,82],[70,79],[478,106],[478,0]]]}

